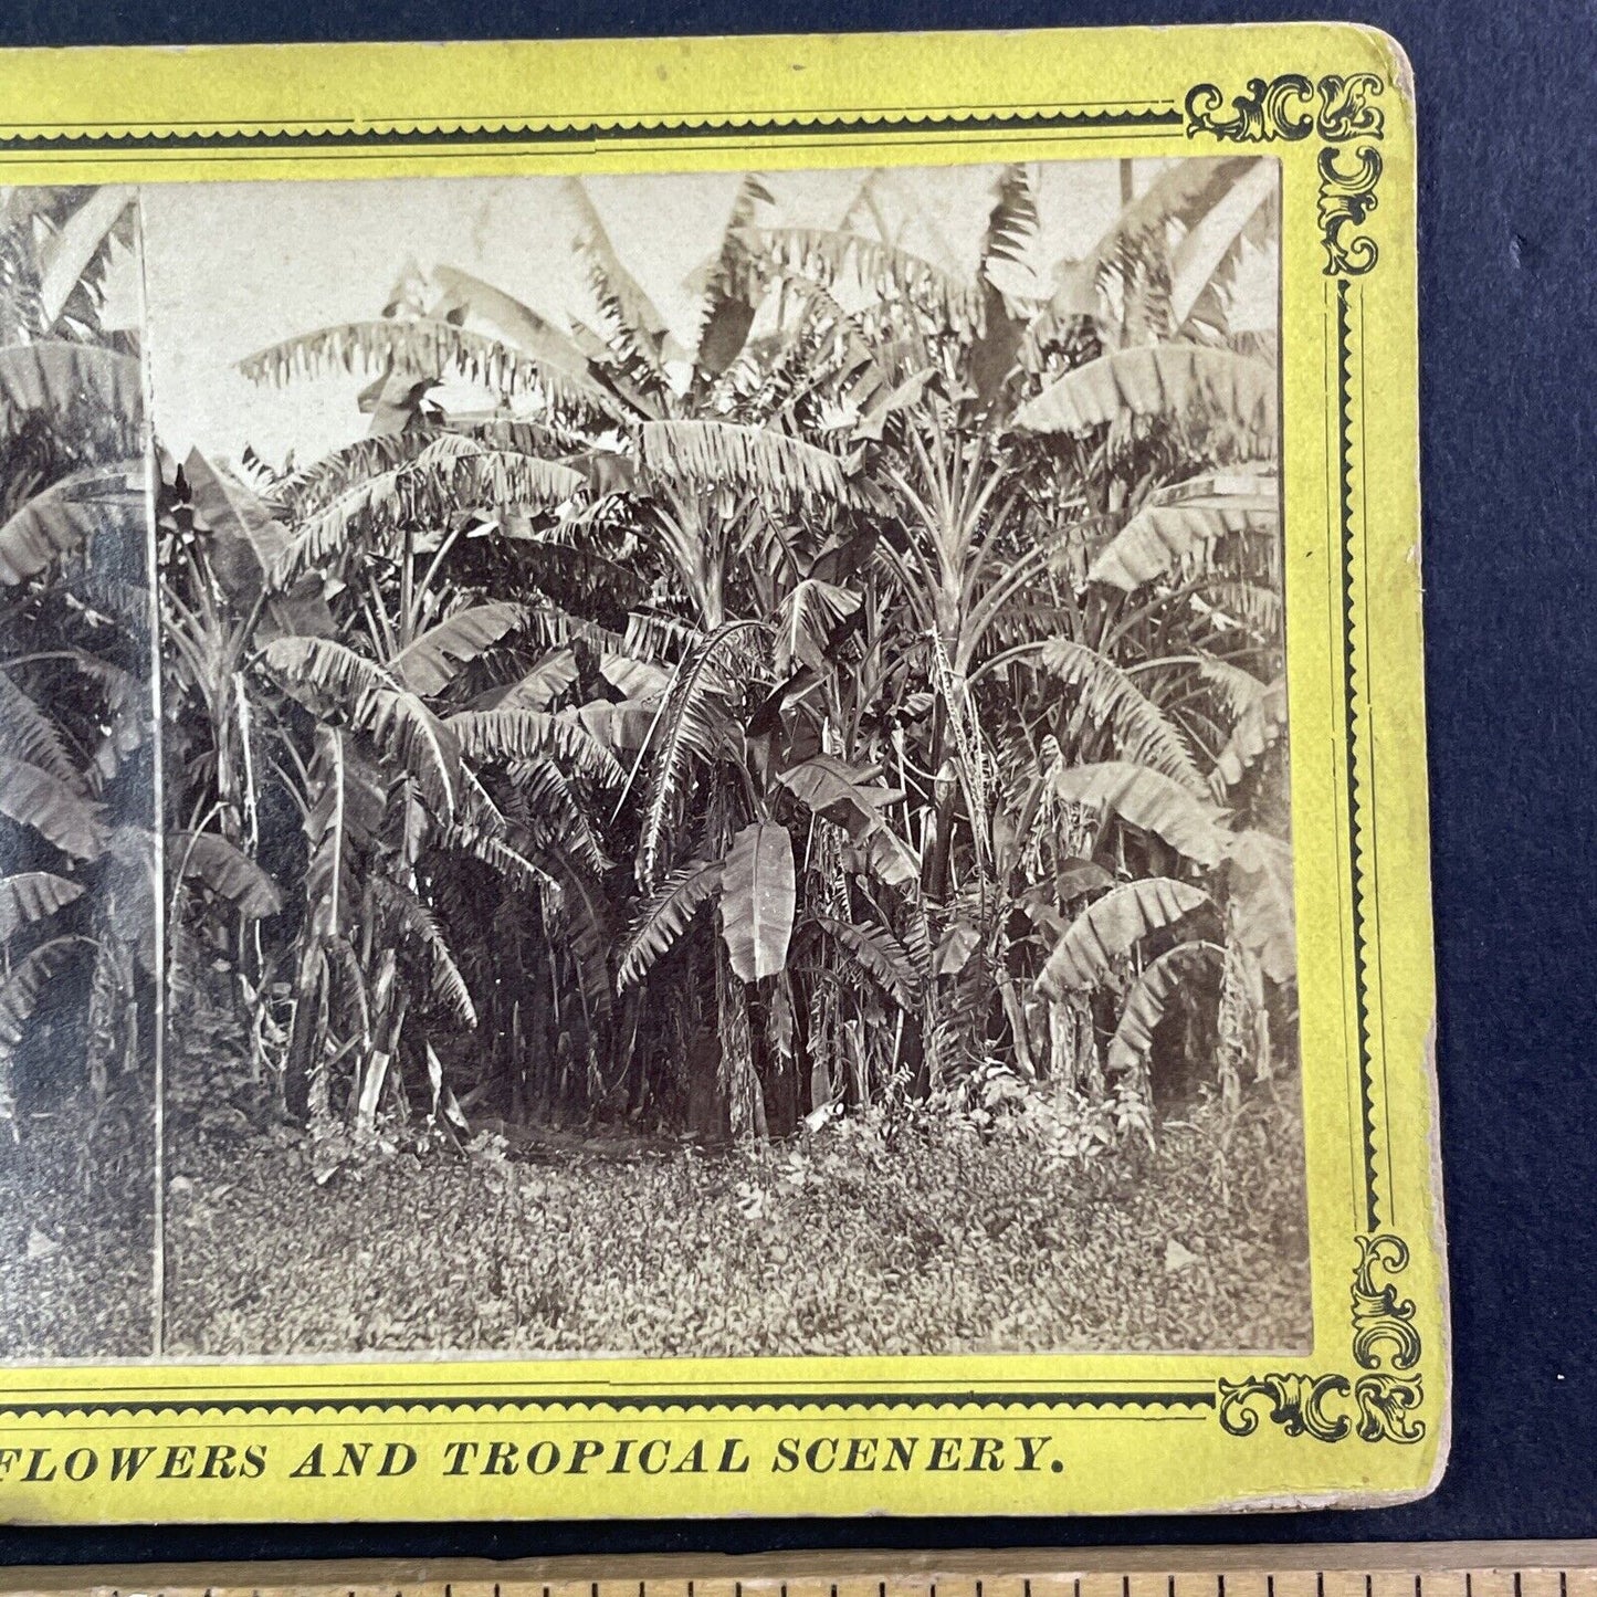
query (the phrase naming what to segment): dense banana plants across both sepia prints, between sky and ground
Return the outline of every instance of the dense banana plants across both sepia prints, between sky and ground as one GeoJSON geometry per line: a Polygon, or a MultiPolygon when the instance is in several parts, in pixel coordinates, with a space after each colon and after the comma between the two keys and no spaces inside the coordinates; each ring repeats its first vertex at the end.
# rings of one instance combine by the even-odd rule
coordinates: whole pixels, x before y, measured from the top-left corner
{"type": "Polygon", "coordinates": [[[407,268],[243,363],[363,385],[281,463],[147,447],[126,192],[8,196],[0,1113],[27,1048],[141,1080],[164,960],[171,1135],[318,1182],[602,1124],[1190,1174],[1212,1099],[1225,1188],[1297,1028],[1273,166],[1059,262],[1040,192],[960,260],[880,174],[829,228],[746,177],[680,340],[570,180],[580,313],[407,268]]]}

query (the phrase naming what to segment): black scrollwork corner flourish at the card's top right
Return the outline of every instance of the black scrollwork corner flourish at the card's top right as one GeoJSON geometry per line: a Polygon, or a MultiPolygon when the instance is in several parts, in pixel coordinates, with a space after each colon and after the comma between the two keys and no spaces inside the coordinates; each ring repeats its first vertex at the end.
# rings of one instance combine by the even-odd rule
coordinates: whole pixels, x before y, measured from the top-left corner
{"type": "Polygon", "coordinates": [[[1219,85],[1196,83],[1187,91],[1187,137],[1209,134],[1226,144],[1321,139],[1326,147],[1318,161],[1319,233],[1326,276],[1356,278],[1380,259],[1375,240],[1356,228],[1375,209],[1381,155],[1372,144],[1359,144],[1349,152],[1338,145],[1385,134],[1386,120],[1375,104],[1381,89],[1373,72],[1329,72],[1318,80],[1302,72],[1249,78],[1242,93],[1230,101],[1219,85]]]}

